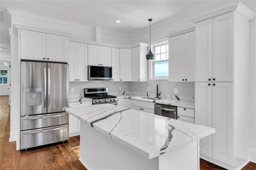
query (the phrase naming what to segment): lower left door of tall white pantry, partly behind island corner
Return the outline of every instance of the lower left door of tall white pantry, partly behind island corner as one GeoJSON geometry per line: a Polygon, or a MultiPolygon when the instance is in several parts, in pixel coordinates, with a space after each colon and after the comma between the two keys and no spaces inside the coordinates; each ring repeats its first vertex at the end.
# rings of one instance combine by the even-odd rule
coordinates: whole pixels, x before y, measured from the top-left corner
{"type": "MultiPolygon", "coordinates": [[[[195,123],[212,127],[212,83],[195,84],[195,123]]],[[[212,134],[200,139],[200,154],[212,158],[212,134]]]]}

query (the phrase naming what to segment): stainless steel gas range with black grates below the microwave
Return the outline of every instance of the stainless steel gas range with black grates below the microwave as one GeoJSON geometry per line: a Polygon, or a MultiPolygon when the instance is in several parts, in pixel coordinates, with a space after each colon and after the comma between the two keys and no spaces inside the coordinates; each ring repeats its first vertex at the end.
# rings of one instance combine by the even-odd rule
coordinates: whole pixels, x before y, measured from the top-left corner
{"type": "Polygon", "coordinates": [[[84,88],[84,97],[92,99],[92,105],[106,103],[117,105],[117,97],[108,95],[108,87],[84,88]]]}

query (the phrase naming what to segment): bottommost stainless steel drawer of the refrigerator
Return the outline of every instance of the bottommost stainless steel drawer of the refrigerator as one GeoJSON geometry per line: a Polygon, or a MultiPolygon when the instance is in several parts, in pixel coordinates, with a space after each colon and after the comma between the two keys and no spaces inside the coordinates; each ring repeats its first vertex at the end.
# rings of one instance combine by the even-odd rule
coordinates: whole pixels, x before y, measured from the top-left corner
{"type": "Polygon", "coordinates": [[[68,140],[68,136],[68,124],[20,131],[20,149],[61,142],[68,140]]]}

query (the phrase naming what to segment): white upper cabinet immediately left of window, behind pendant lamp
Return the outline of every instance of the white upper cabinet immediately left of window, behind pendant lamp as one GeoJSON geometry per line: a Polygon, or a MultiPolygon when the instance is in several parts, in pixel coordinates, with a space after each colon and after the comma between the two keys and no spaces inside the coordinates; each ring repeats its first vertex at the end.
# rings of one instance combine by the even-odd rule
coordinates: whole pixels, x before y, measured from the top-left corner
{"type": "Polygon", "coordinates": [[[132,81],[148,81],[147,46],[132,48],[132,81]]]}

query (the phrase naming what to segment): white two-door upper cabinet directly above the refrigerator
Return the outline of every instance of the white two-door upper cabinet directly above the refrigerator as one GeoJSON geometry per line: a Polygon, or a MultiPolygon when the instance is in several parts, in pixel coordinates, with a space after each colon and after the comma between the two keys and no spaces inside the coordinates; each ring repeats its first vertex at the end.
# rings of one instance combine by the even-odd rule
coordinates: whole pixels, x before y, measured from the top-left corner
{"type": "Polygon", "coordinates": [[[21,59],[68,62],[68,37],[21,30],[21,59]]]}

